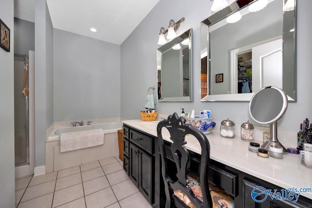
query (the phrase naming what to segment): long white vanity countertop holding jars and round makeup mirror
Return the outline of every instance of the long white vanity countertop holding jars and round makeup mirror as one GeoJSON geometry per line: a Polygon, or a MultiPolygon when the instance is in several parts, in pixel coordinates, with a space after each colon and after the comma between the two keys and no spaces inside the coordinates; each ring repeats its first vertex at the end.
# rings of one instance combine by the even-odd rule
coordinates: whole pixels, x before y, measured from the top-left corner
{"type": "MultiPolygon", "coordinates": [[[[149,123],[139,119],[124,120],[122,122],[157,137],[156,122],[149,123]]],[[[283,159],[259,157],[257,153],[248,151],[249,142],[240,139],[240,125],[235,126],[235,138],[231,139],[224,138],[219,134],[220,124],[219,122],[216,123],[217,125],[212,133],[206,135],[210,143],[211,159],[284,189],[312,188],[312,169],[308,169],[300,164],[300,154],[287,153],[283,155],[283,159]]],[[[171,141],[169,132],[165,128],[162,131],[163,138],[171,141]]],[[[285,132],[281,132],[280,135],[287,135],[288,131],[285,132]]],[[[295,132],[291,132],[291,134],[293,136],[295,132]]],[[[201,148],[195,137],[187,135],[186,141],[185,147],[187,149],[200,154],[201,148]]],[[[280,138],[279,141],[285,148],[290,147],[283,143],[280,138]]],[[[262,140],[255,140],[254,142],[262,144],[262,140]]],[[[292,148],[294,147],[292,146],[292,148]]],[[[312,199],[312,192],[301,192],[300,195],[312,199]]]]}

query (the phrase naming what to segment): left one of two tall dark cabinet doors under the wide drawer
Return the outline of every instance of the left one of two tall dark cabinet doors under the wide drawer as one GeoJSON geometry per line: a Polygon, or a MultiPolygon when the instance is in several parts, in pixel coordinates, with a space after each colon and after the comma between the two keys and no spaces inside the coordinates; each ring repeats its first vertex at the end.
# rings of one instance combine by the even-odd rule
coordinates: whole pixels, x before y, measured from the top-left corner
{"type": "Polygon", "coordinates": [[[139,182],[139,151],[138,148],[130,144],[130,179],[138,187],[139,182]]]}

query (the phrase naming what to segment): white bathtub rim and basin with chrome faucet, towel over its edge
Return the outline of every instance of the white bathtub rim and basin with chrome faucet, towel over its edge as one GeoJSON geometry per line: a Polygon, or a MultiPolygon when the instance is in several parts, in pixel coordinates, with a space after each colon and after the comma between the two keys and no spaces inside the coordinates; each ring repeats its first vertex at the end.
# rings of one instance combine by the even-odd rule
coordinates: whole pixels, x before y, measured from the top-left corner
{"type": "Polygon", "coordinates": [[[111,122],[102,124],[91,124],[90,126],[76,126],[76,127],[59,127],[50,131],[47,135],[47,142],[59,141],[61,133],[78,132],[93,129],[102,129],[104,134],[117,132],[122,127],[122,122],[111,122]]]}

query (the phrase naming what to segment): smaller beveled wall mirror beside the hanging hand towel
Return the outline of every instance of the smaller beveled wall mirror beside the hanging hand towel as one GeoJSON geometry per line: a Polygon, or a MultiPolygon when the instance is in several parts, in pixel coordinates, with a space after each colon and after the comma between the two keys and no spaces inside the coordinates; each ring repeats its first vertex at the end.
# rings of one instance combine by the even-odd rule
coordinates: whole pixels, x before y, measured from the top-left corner
{"type": "Polygon", "coordinates": [[[157,49],[158,101],[192,101],[192,28],[157,49]]]}

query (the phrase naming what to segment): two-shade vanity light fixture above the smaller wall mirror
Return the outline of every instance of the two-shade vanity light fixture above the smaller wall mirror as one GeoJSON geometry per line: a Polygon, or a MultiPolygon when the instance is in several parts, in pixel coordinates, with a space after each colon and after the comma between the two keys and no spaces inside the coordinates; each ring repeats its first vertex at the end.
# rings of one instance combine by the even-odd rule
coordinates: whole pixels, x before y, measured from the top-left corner
{"type": "Polygon", "coordinates": [[[168,42],[170,42],[172,39],[176,38],[176,31],[180,27],[180,23],[184,21],[185,18],[179,19],[177,22],[175,22],[173,19],[170,19],[169,21],[169,27],[166,30],[164,27],[160,28],[159,36],[158,36],[158,45],[164,45],[167,43],[167,40],[165,38],[165,34],[168,32],[167,39],[168,42]]]}

